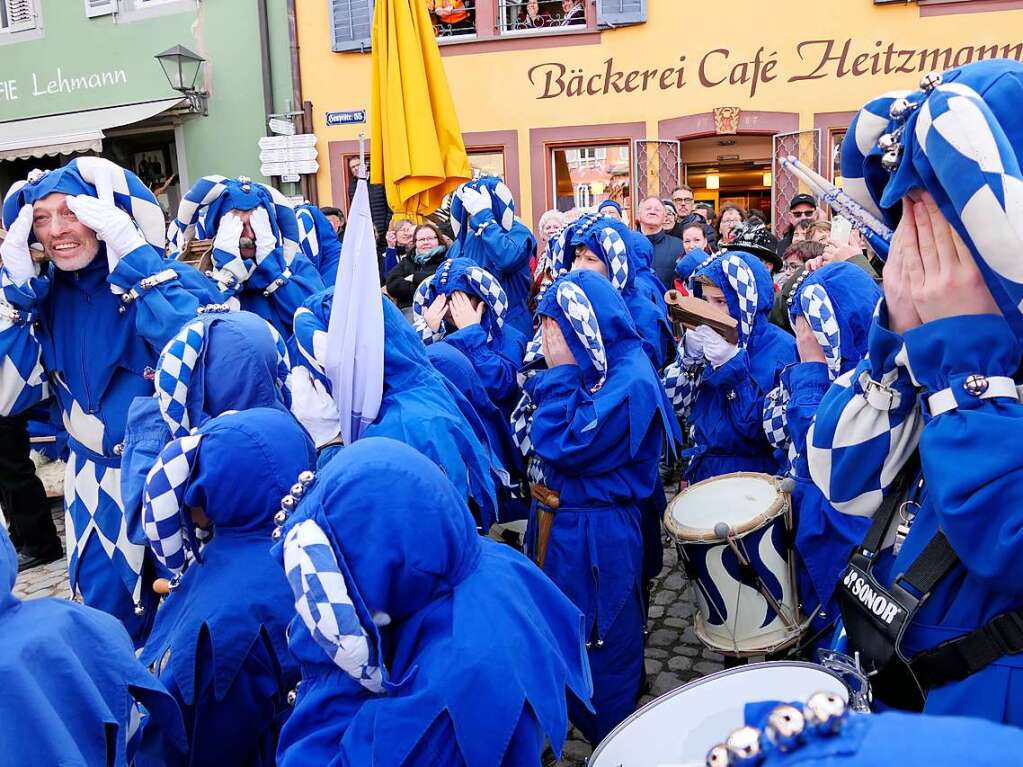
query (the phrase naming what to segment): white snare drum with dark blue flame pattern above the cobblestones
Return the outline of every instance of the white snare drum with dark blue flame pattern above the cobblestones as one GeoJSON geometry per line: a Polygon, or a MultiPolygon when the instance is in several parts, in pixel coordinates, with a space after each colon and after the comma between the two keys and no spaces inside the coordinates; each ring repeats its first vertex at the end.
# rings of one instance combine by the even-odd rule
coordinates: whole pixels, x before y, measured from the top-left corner
{"type": "Polygon", "coordinates": [[[749,471],[692,485],[668,506],[664,527],[697,587],[696,632],[708,647],[747,658],[799,639],[793,524],[782,481],[749,471]]]}

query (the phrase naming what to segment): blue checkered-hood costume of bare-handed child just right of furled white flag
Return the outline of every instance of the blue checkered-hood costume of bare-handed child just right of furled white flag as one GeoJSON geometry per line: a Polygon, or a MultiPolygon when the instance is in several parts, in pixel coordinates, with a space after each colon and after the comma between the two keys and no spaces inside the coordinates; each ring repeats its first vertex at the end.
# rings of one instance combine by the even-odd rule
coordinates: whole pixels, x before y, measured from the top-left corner
{"type": "Polygon", "coordinates": [[[519,401],[516,375],[522,367],[527,337],[506,321],[508,298],[501,283],[469,259],[447,259],[430,279],[424,280],[412,300],[415,329],[426,345],[446,341],[473,363],[490,399],[506,414],[519,401]],[[438,296],[461,291],[482,301],[487,309],[478,324],[457,328],[442,321],[433,330],[422,313],[438,296]]]}

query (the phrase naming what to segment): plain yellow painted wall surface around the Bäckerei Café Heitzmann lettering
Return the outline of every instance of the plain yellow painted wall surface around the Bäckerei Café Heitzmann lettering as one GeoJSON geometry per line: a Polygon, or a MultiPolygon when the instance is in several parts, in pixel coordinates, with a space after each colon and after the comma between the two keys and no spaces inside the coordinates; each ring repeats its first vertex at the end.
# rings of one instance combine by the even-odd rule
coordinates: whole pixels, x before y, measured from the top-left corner
{"type": "MultiPolygon", "coordinates": [[[[595,44],[502,50],[493,43],[473,53],[442,46],[461,130],[518,131],[519,209],[527,220],[532,128],[638,121],[653,139],[659,121],[739,106],[798,112],[805,129],[819,112],[854,110],[885,91],[917,88],[925,72],[991,57],[990,46],[1023,58],[1023,10],[924,16],[916,4],[871,0],[648,4],[646,24],[606,30],[595,44]],[[613,84],[630,92],[605,88],[609,58],[623,73],[613,84]]],[[[331,52],[327,5],[298,0],[296,13],[303,97],[313,104],[319,139],[321,205],[331,199],[328,142],[369,131],[328,127],[324,112],[370,102],[370,56],[331,52]]]]}

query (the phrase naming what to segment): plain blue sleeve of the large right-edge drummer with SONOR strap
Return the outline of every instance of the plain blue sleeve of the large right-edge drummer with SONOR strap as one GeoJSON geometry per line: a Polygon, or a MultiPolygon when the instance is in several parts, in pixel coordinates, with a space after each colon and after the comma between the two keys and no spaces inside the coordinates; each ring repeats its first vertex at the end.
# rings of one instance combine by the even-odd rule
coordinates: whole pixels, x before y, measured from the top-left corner
{"type": "Polygon", "coordinates": [[[1023,404],[965,386],[972,375],[1012,379],[1019,344],[1003,317],[974,315],[921,325],[905,347],[925,396],[949,390],[957,403],[927,416],[920,441],[941,530],[972,574],[1023,593],[1023,404]]]}

